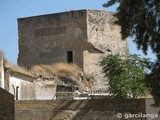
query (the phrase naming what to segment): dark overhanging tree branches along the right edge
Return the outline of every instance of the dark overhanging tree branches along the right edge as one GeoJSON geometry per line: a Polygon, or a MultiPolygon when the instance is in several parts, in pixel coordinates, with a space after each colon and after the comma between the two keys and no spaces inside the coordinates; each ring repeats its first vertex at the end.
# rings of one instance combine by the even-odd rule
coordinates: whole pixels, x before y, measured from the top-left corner
{"type": "Polygon", "coordinates": [[[160,105],[160,0],[109,0],[103,6],[118,3],[116,24],[121,26],[122,38],[133,36],[138,49],[147,54],[151,48],[157,60],[148,75],[148,85],[160,105]]]}

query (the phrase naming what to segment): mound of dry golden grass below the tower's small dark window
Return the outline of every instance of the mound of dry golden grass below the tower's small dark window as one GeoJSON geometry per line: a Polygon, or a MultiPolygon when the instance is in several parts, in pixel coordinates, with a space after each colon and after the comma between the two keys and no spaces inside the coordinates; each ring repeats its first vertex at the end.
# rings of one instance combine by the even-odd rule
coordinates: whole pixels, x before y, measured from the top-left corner
{"type": "Polygon", "coordinates": [[[86,81],[85,74],[82,69],[76,64],[67,63],[54,63],[52,65],[35,65],[30,69],[32,74],[42,75],[43,77],[49,78],[50,76],[55,76],[59,80],[61,78],[68,78],[70,82],[77,83],[81,88],[90,87],[90,81],[86,81]],[[83,77],[83,78],[81,78],[83,77]],[[83,79],[82,81],[80,79],[83,79]]]}

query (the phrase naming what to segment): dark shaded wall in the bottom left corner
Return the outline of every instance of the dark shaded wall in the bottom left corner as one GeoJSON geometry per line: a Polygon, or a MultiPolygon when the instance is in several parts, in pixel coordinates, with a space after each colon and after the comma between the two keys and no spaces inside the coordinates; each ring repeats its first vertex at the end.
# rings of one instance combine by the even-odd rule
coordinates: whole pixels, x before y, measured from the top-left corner
{"type": "Polygon", "coordinates": [[[0,120],[15,120],[14,97],[0,88],[0,120]]]}

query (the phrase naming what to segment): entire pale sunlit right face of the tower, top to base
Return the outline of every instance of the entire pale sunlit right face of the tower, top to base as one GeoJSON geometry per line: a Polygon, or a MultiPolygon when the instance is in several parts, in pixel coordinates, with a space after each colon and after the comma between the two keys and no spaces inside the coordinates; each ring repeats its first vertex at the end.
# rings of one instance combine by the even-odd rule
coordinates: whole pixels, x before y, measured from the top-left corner
{"type": "Polygon", "coordinates": [[[116,18],[114,13],[88,10],[87,11],[87,37],[88,42],[103,53],[92,53],[84,51],[84,72],[92,74],[94,77],[94,86],[102,88],[107,86],[104,75],[102,74],[99,62],[110,54],[120,54],[127,56],[129,54],[127,40],[122,40],[120,26],[114,24],[116,18]]]}

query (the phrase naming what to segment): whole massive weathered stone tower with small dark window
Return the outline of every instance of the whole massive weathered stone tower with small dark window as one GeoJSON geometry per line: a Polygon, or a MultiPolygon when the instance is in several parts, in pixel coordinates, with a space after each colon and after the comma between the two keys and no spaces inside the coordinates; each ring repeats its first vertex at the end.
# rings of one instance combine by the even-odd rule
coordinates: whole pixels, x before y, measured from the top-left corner
{"type": "MultiPolygon", "coordinates": [[[[95,80],[102,79],[98,63],[103,56],[128,55],[127,40],[122,41],[113,14],[78,10],[18,19],[18,64],[75,63],[95,80]]],[[[94,84],[101,87],[104,82],[94,84]]]]}

